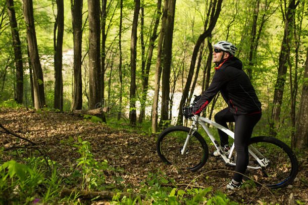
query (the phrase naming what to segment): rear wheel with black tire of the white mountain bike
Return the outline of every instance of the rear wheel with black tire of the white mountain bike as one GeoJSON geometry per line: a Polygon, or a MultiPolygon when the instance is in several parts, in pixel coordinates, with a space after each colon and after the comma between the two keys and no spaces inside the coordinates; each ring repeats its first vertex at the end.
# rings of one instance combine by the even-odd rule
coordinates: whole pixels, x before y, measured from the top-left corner
{"type": "MultiPolygon", "coordinates": [[[[298,161],[288,145],[276,138],[264,136],[251,138],[250,145],[270,162],[263,169],[248,169],[246,174],[272,189],[283,188],[293,182],[298,172],[298,161]]],[[[251,146],[249,148],[252,149],[251,146]]],[[[250,154],[248,166],[259,166],[250,154]]]]}

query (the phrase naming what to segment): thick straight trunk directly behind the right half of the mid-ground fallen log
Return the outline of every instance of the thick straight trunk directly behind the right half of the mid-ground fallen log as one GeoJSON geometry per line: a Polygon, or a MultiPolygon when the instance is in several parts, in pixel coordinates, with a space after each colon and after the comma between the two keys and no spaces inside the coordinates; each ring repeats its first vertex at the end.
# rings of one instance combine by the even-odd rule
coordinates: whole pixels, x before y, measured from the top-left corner
{"type": "Polygon", "coordinates": [[[100,6],[99,0],[88,0],[89,12],[89,109],[100,106],[100,6]]]}

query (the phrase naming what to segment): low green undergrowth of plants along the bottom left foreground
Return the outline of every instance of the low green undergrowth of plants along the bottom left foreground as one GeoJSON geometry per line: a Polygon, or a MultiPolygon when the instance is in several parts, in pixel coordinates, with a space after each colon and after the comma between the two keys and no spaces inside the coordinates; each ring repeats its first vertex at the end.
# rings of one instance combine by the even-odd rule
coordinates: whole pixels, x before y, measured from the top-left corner
{"type": "MultiPolygon", "coordinates": [[[[148,173],[147,179],[140,183],[140,187],[131,187],[124,184],[119,174],[124,169],[113,168],[107,160],[97,161],[93,158],[88,141],[78,137],[75,142],[73,138],[69,138],[66,145],[76,147],[80,155],[80,158],[76,159],[76,169],[63,170],[57,166],[57,162],[49,161],[54,164],[54,169],[50,173],[42,157],[34,155],[21,157],[25,155],[23,150],[10,152],[11,157],[17,159],[0,163],[0,204],[35,204],[37,202],[89,204],[88,200],[80,200],[82,196],[78,191],[69,196],[62,196],[61,191],[64,187],[86,191],[112,188],[114,193],[118,193],[110,201],[113,204],[237,204],[230,201],[222,192],[216,192],[213,195],[212,187],[180,189],[166,186],[165,184],[175,184],[175,182],[160,170],[156,173],[148,173]],[[69,172],[70,175],[61,177],[65,172],[69,172]],[[116,184],[113,186],[107,184],[105,181],[107,177],[112,177],[116,184]],[[125,192],[133,193],[137,188],[139,193],[134,197],[121,198],[121,192],[125,187],[130,187],[126,188],[125,192]]],[[[8,153],[2,151],[0,154],[8,153]]],[[[99,198],[94,197],[93,200],[99,200],[99,198]]]]}

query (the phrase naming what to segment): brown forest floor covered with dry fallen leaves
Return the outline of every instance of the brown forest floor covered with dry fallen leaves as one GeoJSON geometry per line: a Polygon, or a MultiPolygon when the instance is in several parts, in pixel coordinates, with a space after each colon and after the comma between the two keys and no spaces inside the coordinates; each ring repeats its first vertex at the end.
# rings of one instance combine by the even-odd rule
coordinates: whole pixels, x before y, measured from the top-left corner
{"type": "MultiPolygon", "coordinates": [[[[237,191],[227,191],[225,187],[232,177],[231,172],[211,172],[211,170],[227,169],[221,160],[210,157],[206,165],[197,172],[181,171],[161,162],[156,152],[156,135],[145,135],[128,132],[125,129],[114,129],[99,122],[84,120],[81,116],[56,112],[37,112],[30,109],[0,108],[1,124],[22,137],[40,144],[53,160],[57,161],[63,176],[70,176],[70,170],[77,169],[76,159],[80,154],[78,148],[69,145],[69,138],[77,142],[77,137],[90,142],[92,154],[96,160],[106,159],[109,166],[123,168],[118,172],[124,181],[123,187],[131,187],[138,193],[142,183],[151,173],[158,177],[170,177],[182,189],[187,184],[195,187],[212,186],[213,194],[220,190],[236,202],[263,204],[287,204],[293,194],[295,200],[301,204],[308,203],[308,162],[307,152],[297,154],[299,173],[295,182],[281,190],[254,188],[241,188],[237,191]],[[196,179],[193,183],[192,180],[196,179]]],[[[0,146],[11,147],[25,145],[26,142],[16,140],[15,137],[0,134],[0,146]]],[[[213,148],[210,151],[213,151],[213,148]]],[[[113,184],[114,177],[106,176],[106,182],[113,184]]],[[[71,187],[70,187],[71,188],[71,187]]]]}

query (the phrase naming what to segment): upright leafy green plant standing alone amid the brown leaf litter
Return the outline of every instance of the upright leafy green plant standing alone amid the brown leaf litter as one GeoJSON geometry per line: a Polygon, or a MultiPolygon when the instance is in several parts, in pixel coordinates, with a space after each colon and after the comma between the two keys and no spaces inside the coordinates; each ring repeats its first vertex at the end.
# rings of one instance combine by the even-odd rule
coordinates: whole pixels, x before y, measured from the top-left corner
{"type": "Polygon", "coordinates": [[[91,153],[90,143],[82,141],[81,137],[78,137],[78,143],[73,146],[78,147],[78,153],[81,155],[77,159],[79,162],[77,166],[81,168],[82,172],[81,189],[93,190],[94,187],[100,187],[99,185],[105,183],[104,171],[108,168],[107,160],[95,161],[91,153]]]}

